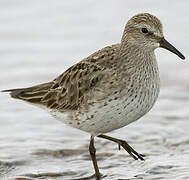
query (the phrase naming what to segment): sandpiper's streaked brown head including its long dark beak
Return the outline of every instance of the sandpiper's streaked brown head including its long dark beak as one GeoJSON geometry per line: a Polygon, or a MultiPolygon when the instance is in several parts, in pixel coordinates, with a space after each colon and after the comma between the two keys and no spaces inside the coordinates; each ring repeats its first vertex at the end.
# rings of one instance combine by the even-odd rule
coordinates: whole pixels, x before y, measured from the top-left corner
{"type": "Polygon", "coordinates": [[[122,42],[125,39],[127,43],[140,47],[144,51],[153,51],[161,47],[185,59],[182,53],[164,38],[161,21],[149,13],[137,14],[128,21],[122,42]]]}

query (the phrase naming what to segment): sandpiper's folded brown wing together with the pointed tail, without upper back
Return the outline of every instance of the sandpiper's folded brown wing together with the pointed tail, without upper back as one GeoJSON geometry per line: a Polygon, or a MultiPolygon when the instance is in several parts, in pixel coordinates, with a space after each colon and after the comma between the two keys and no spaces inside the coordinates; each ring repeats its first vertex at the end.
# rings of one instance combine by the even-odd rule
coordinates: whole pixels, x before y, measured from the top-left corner
{"type": "Polygon", "coordinates": [[[84,101],[86,93],[102,78],[103,68],[80,62],[54,81],[29,88],[9,89],[11,97],[51,109],[74,110],[84,101]]]}

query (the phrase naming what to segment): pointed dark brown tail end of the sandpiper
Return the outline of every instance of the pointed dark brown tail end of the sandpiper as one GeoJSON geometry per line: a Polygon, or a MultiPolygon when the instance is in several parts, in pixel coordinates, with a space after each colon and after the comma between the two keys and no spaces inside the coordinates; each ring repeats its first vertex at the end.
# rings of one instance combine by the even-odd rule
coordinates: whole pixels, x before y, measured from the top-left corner
{"type": "Polygon", "coordinates": [[[10,92],[10,96],[15,99],[20,99],[34,104],[41,104],[43,96],[52,87],[53,82],[32,86],[29,88],[7,89],[0,92],[10,92]]]}

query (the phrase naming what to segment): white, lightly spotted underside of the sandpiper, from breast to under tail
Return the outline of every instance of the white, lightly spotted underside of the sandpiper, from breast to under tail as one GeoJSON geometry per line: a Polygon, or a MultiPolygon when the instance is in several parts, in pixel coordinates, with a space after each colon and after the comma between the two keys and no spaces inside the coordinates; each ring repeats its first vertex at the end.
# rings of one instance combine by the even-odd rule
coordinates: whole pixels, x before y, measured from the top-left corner
{"type": "Polygon", "coordinates": [[[116,95],[106,102],[94,104],[88,111],[75,113],[51,112],[57,119],[69,126],[89,132],[92,135],[107,133],[136,121],[146,114],[155,103],[159,88],[140,91],[137,96],[116,95]]]}

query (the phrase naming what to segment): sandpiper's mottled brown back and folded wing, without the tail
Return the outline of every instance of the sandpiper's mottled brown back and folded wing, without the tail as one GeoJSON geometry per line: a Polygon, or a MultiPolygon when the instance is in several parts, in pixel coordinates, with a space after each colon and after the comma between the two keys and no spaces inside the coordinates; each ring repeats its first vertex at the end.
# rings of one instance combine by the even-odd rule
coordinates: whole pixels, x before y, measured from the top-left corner
{"type": "Polygon", "coordinates": [[[105,47],[70,67],[53,81],[54,85],[41,102],[60,111],[75,110],[93,96],[90,92],[99,91],[98,84],[102,87],[101,92],[96,93],[100,99],[107,89],[104,86],[105,82],[111,81],[112,62],[119,46],[116,44],[105,47]]]}

